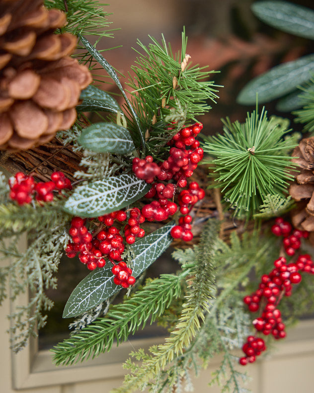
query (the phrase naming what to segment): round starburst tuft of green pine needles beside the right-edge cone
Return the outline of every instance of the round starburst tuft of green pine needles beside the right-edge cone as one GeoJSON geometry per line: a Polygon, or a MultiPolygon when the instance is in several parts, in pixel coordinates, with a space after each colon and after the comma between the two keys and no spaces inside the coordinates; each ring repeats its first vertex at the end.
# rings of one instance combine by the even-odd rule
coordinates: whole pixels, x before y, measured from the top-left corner
{"type": "Polygon", "coordinates": [[[264,107],[260,115],[257,108],[248,113],[245,123],[229,118],[223,123],[224,134],[209,137],[204,150],[215,158],[210,166],[216,185],[235,215],[249,217],[266,195],[284,195],[294,167],[286,152],[295,145],[282,139],[288,130],[277,127],[276,119],[268,120],[264,107]]]}

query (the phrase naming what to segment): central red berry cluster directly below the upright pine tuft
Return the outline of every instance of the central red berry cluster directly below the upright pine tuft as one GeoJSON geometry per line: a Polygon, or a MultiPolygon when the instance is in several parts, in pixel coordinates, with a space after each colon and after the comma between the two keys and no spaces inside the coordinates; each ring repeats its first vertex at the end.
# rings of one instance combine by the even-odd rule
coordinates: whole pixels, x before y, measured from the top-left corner
{"type": "MultiPolygon", "coordinates": [[[[195,123],[189,127],[182,128],[168,142],[172,146],[169,157],[163,161],[159,167],[159,173],[154,175],[155,167],[152,166],[152,157],[148,156],[145,160],[135,158],[133,160],[133,172],[140,179],[145,179],[148,183],[153,182],[153,176],[157,177],[158,183],[152,185],[151,190],[145,195],[146,198],[156,197],[151,203],[142,207],[142,215],[148,221],[163,221],[177,211],[177,204],[173,201],[177,187],[187,186],[186,179],[192,176],[197,164],[203,158],[203,149],[200,148],[199,141],[195,136],[199,134],[203,125],[195,123]],[[176,185],[163,184],[160,181],[168,182],[173,179],[176,185]],[[168,200],[172,199],[172,200],[168,200]]],[[[192,206],[205,196],[196,182],[189,185],[188,190],[183,190],[178,196],[181,214],[188,214],[192,206]]],[[[181,217],[179,225],[171,231],[171,235],[178,239],[189,241],[193,238],[191,232],[191,216],[181,217]]]]}

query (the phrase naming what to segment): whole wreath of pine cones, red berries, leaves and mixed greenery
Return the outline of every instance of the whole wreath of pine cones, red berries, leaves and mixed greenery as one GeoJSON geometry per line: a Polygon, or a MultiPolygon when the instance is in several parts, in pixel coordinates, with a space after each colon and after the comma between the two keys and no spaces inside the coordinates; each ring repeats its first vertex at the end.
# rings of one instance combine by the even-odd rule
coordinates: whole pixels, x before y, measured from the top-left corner
{"type": "MultiPolygon", "coordinates": [[[[265,3],[281,10],[276,1],[265,3]]],[[[291,15],[305,12],[286,6],[291,15]]],[[[218,353],[223,360],[212,382],[241,392],[249,367],[240,366],[314,310],[314,263],[305,251],[314,231],[304,226],[313,221],[313,140],[300,142],[287,119],[258,105],[243,122],[227,117],[219,133],[206,136],[200,119],[222,87],[192,64],[185,31],[175,54],[163,36],[161,43],[138,42],[127,95],[98,39],[93,45],[85,38],[111,36],[97,1],[0,0],[0,12],[7,60],[0,70],[0,165],[12,175],[0,176],[0,253],[12,261],[0,268],[0,301],[6,281],[12,303],[32,292],[9,316],[12,350],[46,324],[53,306],[46,290],[57,286],[61,258],[78,257],[86,275],[64,305],[63,317],[76,319],[70,337],[52,349],[57,365],[109,351],[158,322],[169,336],[131,354],[136,362],[126,361],[130,373],[116,393],[191,391],[190,371],[197,374],[218,353]],[[100,67],[123,103],[97,85],[102,76],[92,82],[90,70],[100,67]],[[27,108],[42,116],[29,122],[27,108]],[[303,226],[295,224],[294,199],[307,202],[303,226]],[[148,278],[170,245],[177,271],[161,274],[156,263],[157,277],[148,278]],[[114,303],[120,292],[123,300],[114,303]],[[235,348],[243,354],[234,356],[235,348]]],[[[302,62],[312,64],[311,56],[302,62]]],[[[286,76],[286,65],[278,67],[286,76]]],[[[245,89],[241,100],[251,96],[245,89]]]]}

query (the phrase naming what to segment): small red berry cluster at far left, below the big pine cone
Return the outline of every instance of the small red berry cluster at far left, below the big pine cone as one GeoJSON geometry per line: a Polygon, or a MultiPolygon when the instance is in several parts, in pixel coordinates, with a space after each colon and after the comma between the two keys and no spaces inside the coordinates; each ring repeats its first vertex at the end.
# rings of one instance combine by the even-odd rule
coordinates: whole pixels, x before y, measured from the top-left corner
{"type": "Polygon", "coordinates": [[[70,180],[62,172],[54,172],[51,175],[51,182],[45,183],[36,183],[32,176],[17,172],[14,177],[9,179],[9,186],[9,197],[16,200],[19,205],[31,203],[33,195],[38,201],[49,202],[54,198],[54,190],[72,190],[70,180]]]}

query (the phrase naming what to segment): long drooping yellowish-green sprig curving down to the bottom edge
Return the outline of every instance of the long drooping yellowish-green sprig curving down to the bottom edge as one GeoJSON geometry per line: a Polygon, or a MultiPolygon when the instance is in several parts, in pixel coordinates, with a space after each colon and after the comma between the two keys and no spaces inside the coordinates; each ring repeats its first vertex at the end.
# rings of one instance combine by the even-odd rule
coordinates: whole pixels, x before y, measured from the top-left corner
{"type": "Polygon", "coordinates": [[[155,383],[160,373],[169,366],[169,363],[184,353],[197,335],[201,328],[200,321],[204,321],[205,314],[208,312],[209,301],[215,287],[213,254],[209,244],[218,237],[218,230],[218,222],[210,220],[202,232],[199,246],[195,247],[194,264],[185,266],[190,269],[187,294],[184,296],[180,318],[171,335],[165,339],[164,344],[151,347],[148,355],[143,351],[133,353],[137,359],[143,360],[142,364],[138,365],[130,360],[126,363],[126,368],[131,369],[131,374],[126,375],[122,387],[114,390],[115,393],[131,393],[142,389],[152,380],[155,383]]]}

